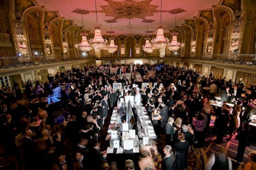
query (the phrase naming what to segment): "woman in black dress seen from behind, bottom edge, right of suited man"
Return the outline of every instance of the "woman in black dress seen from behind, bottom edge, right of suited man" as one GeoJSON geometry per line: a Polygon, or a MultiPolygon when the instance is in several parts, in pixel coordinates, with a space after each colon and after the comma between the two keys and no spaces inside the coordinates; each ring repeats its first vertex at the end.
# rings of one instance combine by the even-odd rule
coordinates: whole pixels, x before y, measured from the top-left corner
{"type": "Polygon", "coordinates": [[[188,169],[188,148],[189,143],[185,140],[185,135],[180,133],[178,135],[178,142],[175,144],[175,162],[173,169],[188,169]]]}

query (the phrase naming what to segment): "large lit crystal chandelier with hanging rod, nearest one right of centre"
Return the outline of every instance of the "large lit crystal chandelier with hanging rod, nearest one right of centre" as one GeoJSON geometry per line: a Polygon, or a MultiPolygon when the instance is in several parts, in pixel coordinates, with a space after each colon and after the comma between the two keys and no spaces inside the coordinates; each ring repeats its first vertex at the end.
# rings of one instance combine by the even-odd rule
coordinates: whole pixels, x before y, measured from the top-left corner
{"type": "Polygon", "coordinates": [[[154,49],[165,49],[169,41],[168,38],[164,38],[164,26],[161,23],[162,22],[162,1],[163,0],[161,0],[160,24],[157,29],[156,38],[152,39],[152,45],[154,49]]]}

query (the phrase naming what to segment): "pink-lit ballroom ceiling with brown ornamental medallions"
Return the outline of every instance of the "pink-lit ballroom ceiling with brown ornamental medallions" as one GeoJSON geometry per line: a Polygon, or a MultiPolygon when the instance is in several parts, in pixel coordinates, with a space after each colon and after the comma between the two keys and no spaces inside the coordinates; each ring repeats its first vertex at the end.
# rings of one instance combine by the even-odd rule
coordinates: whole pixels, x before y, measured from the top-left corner
{"type": "Polygon", "coordinates": [[[176,25],[180,26],[184,20],[198,16],[200,10],[212,8],[220,1],[162,0],[162,12],[161,0],[96,0],[96,5],[95,0],[36,0],[36,3],[46,10],[58,11],[61,17],[74,20],[77,26],[83,25],[83,15],[84,27],[92,33],[98,20],[102,35],[147,35],[146,32],[156,33],[160,20],[166,26],[164,32],[168,32],[175,27],[176,13],[176,25]]]}

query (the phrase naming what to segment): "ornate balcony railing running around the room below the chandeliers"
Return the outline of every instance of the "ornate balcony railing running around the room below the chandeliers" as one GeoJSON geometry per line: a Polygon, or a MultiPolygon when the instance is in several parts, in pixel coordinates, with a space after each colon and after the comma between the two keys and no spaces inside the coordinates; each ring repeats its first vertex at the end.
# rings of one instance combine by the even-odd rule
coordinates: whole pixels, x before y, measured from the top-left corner
{"type": "MultiPolygon", "coordinates": [[[[127,59],[130,57],[113,58],[112,56],[104,56],[101,59],[127,59]]],[[[256,54],[193,54],[193,56],[166,55],[164,58],[159,56],[141,56],[132,58],[147,59],[193,59],[200,61],[214,61],[218,63],[229,63],[234,65],[256,65],[256,54]]],[[[49,63],[57,63],[64,61],[76,61],[82,59],[99,59],[95,56],[20,56],[20,57],[3,57],[0,58],[0,68],[10,68],[19,66],[44,65],[49,63]]]]}

